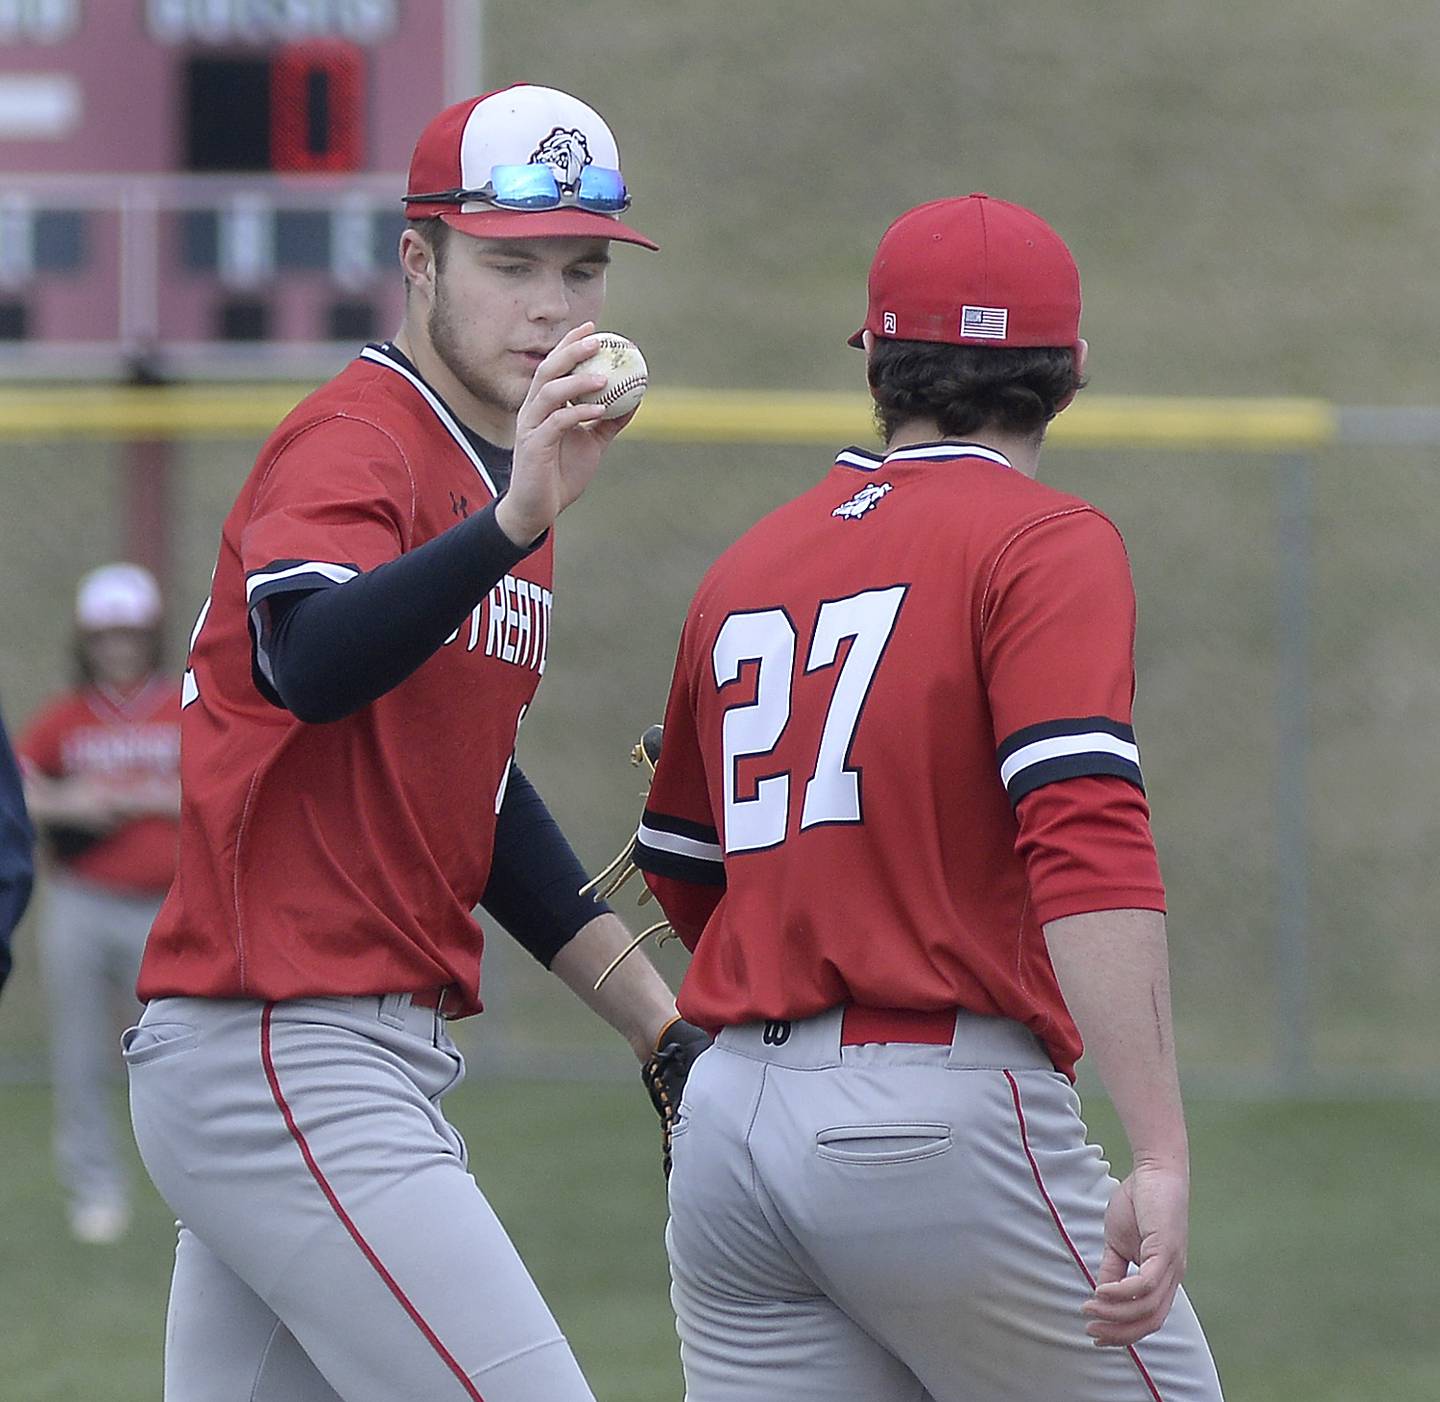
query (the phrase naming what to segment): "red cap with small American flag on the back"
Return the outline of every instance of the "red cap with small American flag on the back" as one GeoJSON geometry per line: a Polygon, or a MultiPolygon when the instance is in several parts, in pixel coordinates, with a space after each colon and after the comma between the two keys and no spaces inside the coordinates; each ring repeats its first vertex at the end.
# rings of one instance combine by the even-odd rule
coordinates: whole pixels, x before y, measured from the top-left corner
{"type": "Polygon", "coordinates": [[[870,265],[863,331],[950,345],[1076,345],[1080,273],[1038,214],[988,194],[903,213],[870,265]]]}

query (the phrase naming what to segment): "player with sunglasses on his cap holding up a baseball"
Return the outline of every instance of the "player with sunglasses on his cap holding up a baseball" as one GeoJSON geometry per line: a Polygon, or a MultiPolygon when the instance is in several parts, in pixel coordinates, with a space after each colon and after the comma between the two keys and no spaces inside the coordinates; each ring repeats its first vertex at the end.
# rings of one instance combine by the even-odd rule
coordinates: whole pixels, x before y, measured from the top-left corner
{"type": "Polygon", "coordinates": [[[586,1402],[439,1110],[482,904],[645,1058],[675,1009],[514,764],[552,527],[624,420],[575,403],[611,245],[600,117],[531,85],[422,132],[408,299],[271,435],[190,641],[180,865],[127,1034],[181,1222],[170,1402],[586,1402]]]}

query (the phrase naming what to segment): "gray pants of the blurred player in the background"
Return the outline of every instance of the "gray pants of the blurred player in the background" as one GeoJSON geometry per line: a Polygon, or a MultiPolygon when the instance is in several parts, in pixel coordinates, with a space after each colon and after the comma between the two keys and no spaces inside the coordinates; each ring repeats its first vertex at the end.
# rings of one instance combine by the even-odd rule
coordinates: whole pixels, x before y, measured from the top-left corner
{"type": "Polygon", "coordinates": [[[115,1029],[134,1016],[135,977],[163,892],[130,894],[55,872],[39,944],[50,1003],[55,1159],[72,1208],[130,1198],[115,1134],[115,1029]]]}

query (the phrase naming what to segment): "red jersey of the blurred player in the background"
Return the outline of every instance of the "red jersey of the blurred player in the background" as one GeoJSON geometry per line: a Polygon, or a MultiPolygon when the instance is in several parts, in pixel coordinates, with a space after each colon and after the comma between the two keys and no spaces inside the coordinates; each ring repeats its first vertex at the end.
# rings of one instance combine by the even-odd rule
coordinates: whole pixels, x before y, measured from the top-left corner
{"type": "MultiPolygon", "coordinates": [[[[85,779],[117,793],[174,783],[180,772],[180,688],[151,678],[131,695],[81,687],[48,702],[20,736],[26,769],[50,779],[85,779]]],[[[115,891],[157,892],[176,869],[176,822],[144,815],[118,823],[56,861],[76,877],[115,891]]]]}

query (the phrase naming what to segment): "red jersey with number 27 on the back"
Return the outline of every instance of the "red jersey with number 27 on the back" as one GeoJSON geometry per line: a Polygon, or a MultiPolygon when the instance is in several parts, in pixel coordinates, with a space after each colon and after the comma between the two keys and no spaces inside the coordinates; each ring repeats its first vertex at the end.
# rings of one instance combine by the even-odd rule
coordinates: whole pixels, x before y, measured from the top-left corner
{"type": "Polygon", "coordinates": [[[636,855],[707,1028],[962,1006],[1080,1038],[1043,924],[1162,908],[1119,533],[999,453],[840,455],[685,620],[636,855]]]}

